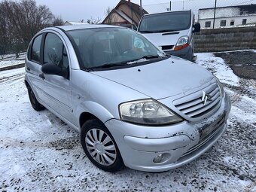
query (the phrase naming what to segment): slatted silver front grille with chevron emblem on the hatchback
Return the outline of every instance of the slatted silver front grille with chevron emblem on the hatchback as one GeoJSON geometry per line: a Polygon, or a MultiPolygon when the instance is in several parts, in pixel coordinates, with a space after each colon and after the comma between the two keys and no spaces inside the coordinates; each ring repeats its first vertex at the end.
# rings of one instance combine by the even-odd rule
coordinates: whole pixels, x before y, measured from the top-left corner
{"type": "Polygon", "coordinates": [[[218,84],[214,83],[196,93],[174,100],[173,105],[188,117],[197,118],[211,112],[220,101],[221,93],[218,84]],[[210,96],[206,103],[202,101],[203,91],[210,96]]]}

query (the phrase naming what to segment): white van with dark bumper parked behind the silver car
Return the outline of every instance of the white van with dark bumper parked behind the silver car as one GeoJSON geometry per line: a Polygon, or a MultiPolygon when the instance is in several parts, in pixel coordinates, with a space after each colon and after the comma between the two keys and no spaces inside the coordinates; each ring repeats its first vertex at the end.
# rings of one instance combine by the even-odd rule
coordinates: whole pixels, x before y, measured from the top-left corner
{"type": "Polygon", "coordinates": [[[194,32],[200,32],[200,23],[194,24],[192,11],[168,11],[144,15],[138,31],[165,53],[192,60],[194,32]]]}

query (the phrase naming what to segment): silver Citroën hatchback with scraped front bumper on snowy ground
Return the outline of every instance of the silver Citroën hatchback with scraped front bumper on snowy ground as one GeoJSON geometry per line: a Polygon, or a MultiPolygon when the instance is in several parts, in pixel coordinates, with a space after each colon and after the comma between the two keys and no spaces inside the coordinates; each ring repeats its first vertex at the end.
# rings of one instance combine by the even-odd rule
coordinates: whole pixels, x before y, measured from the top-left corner
{"type": "Polygon", "coordinates": [[[78,130],[87,157],[109,172],[182,166],[218,141],[230,112],[218,78],[116,26],[38,32],[25,83],[32,107],[78,130]]]}

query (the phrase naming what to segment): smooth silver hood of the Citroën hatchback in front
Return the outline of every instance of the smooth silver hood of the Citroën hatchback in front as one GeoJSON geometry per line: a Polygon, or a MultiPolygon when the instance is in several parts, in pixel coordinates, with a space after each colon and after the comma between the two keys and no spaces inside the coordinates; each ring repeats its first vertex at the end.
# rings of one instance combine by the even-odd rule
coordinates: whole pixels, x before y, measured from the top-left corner
{"type": "Polygon", "coordinates": [[[213,78],[203,67],[175,56],[147,65],[90,73],[130,87],[153,99],[187,92],[213,78]]]}

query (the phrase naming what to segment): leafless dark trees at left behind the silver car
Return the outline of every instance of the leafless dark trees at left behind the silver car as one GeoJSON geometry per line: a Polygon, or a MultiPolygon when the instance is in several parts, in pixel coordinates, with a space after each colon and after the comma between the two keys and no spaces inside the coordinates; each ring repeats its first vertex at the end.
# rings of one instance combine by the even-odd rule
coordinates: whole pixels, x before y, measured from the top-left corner
{"type": "Polygon", "coordinates": [[[36,5],[35,0],[0,3],[0,53],[26,50],[29,41],[47,26],[59,26],[61,17],[54,17],[46,5],[36,5]]]}

